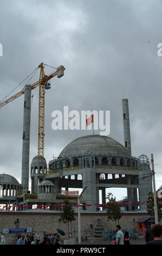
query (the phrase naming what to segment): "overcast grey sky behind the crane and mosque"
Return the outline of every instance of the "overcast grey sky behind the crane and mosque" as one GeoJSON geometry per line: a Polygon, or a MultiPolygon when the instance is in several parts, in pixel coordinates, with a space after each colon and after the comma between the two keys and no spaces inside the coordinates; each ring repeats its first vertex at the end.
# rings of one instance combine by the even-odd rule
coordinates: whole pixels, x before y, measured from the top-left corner
{"type": "MultiPolygon", "coordinates": [[[[52,130],[54,110],[63,111],[63,106],[69,106],[69,111],[110,110],[109,136],[124,144],[121,101],[127,98],[132,155],[153,153],[158,164],[155,172],[162,172],[160,0],[0,0],[0,11],[0,101],[41,62],[66,68],[64,77],[54,77],[46,91],[47,162],[73,139],[92,134],[52,130]]],[[[47,75],[53,71],[44,70],[47,75]]],[[[30,82],[37,80],[38,72],[30,82]]],[[[14,93],[23,87],[24,83],[14,93]]],[[[37,155],[38,88],[32,93],[30,162],[37,155]]],[[[0,173],[13,175],[19,182],[23,100],[21,96],[0,109],[0,173]]],[[[155,179],[158,188],[162,174],[155,179]]]]}

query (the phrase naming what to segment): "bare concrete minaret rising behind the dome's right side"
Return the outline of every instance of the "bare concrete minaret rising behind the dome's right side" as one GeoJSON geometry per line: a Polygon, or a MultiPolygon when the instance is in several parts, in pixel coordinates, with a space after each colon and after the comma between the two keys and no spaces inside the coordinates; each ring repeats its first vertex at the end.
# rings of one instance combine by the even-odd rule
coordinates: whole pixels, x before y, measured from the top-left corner
{"type": "Polygon", "coordinates": [[[125,147],[131,153],[131,133],[130,133],[130,125],[129,125],[128,99],[122,99],[122,113],[123,113],[123,124],[124,124],[125,147]]]}

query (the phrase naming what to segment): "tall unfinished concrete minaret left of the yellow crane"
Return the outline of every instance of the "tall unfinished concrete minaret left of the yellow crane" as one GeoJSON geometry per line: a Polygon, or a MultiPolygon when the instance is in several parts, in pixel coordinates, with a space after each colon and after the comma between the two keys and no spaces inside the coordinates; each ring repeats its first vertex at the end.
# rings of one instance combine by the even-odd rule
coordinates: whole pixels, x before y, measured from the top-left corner
{"type": "Polygon", "coordinates": [[[29,190],[29,149],[30,149],[30,106],[31,86],[24,88],[24,119],[23,119],[23,149],[22,149],[22,187],[23,192],[29,190]]]}

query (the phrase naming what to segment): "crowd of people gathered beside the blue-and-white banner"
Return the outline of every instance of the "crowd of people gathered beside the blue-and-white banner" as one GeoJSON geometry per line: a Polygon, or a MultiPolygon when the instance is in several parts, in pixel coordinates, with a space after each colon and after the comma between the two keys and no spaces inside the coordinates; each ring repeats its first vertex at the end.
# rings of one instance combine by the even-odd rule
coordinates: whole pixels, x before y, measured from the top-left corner
{"type": "Polygon", "coordinates": [[[41,242],[40,235],[22,234],[18,236],[17,245],[60,245],[60,235],[58,233],[44,234],[41,242]]]}

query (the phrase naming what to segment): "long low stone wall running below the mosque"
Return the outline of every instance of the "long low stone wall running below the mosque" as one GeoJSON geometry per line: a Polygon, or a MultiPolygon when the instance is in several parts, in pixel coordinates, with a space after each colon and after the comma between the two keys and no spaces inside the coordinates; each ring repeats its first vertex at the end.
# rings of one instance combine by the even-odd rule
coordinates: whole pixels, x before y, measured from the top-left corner
{"type": "MultiPolygon", "coordinates": [[[[131,228],[137,229],[137,223],[133,222],[140,220],[143,217],[147,217],[147,214],[131,214],[126,213],[121,217],[119,224],[123,229],[131,228]]],[[[60,212],[58,213],[42,213],[42,212],[0,212],[0,229],[1,234],[3,229],[8,228],[32,228],[33,233],[40,234],[41,242],[43,239],[43,231],[48,233],[56,232],[57,228],[63,229],[66,233],[65,236],[61,236],[61,243],[63,239],[67,239],[67,224],[62,222],[59,223],[60,212]],[[20,223],[15,224],[16,219],[19,219],[20,223]]],[[[72,223],[73,236],[77,239],[77,214],[75,214],[76,220],[72,223]]],[[[103,222],[104,229],[115,229],[115,223],[112,221],[107,221],[106,213],[81,213],[81,235],[85,237],[87,231],[92,234],[92,229],[90,224],[95,226],[98,218],[103,222]]],[[[7,244],[17,243],[17,234],[4,234],[7,244]]]]}

